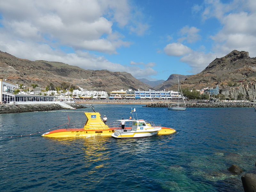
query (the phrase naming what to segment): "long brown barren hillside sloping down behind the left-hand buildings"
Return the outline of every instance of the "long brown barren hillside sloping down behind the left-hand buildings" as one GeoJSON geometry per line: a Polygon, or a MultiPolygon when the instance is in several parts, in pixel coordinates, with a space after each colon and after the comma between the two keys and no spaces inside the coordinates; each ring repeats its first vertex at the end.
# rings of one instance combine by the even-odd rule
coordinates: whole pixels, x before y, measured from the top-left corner
{"type": "Polygon", "coordinates": [[[15,84],[38,84],[44,87],[50,83],[59,86],[63,82],[83,87],[87,90],[113,91],[120,89],[148,90],[130,73],[108,70],[85,70],[77,66],[44,60],[30,61],[0,52],[0,78],[15,84]]]}

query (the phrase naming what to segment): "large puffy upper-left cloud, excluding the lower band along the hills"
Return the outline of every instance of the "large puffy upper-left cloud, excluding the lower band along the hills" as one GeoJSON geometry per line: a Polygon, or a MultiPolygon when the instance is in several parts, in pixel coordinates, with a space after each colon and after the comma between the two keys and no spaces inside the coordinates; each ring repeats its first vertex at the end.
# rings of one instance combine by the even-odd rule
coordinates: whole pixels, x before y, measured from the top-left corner
{"type": "Polygon", "coordinates": [[[116,36],[114,22],[138,35],[148,29],[147,23],[132,14],[133,7],[126,0],[9,0],[0,1],[0,12],[2,33],[54,48],[61,44],[74,50],[113,54],[131,44],[122,40],[123,35],[116,36]]]}

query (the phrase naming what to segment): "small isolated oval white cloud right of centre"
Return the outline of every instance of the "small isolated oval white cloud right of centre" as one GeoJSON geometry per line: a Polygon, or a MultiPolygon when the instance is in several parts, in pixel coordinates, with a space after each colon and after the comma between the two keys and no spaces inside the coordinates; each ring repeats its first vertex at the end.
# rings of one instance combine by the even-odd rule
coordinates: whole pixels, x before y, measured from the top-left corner
{"type": "Polygon", "coordinates": [[[171,43],[164,47],[164,52],[169,56],[182,56],[192,52],[192,50],[181,43],[171,43]]]}

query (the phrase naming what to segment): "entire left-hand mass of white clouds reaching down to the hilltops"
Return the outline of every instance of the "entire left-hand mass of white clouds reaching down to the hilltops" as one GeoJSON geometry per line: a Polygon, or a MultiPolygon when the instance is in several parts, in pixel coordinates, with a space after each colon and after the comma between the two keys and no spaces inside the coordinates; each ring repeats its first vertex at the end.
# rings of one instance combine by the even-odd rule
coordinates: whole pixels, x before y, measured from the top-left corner
{"type": "Polygon", "coordinates": [[[0,50],[16,57],[126,71],[136,77],[157,73],[150,68],[152,63],[144,64],[143,69],[128,67],[88,52],[116,54],[117,48],[131,44],[117,30],[131,29],[138,35],[148,30],[140,12],[127,0],[8,0],[0,1],[0,13],[0,50]],[[61,51],[61,46],[74,53],[61,51]]]}

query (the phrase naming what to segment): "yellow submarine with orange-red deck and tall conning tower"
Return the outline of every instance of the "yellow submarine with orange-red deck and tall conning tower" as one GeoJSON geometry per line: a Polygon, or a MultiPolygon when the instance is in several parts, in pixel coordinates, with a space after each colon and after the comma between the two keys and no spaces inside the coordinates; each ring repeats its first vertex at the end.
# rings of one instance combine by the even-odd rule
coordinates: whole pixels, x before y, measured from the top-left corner
{"type": "MultiPolygon", "coordinates": [[[[85,112],[87,121],[84,125],[84,128],[65,128],[57,129],[50,132],[42,134],[43,137],[52,137],[52,138],[65,138],[65,137],[91,137],[91,136],[111,136],[115,130],[121,129],[119,124],[108,126],[100,118],[99,112],[85,112]]],[[[119,120],[120,121],[120,120],[119,120]]],[[[148,126],[154,127],[152,123],[147,123],[148,126]]],[[[176,132],[175,129],[162,127],[157,134],[171,134],[176,132]]],[[[125,127],[129,130],[131,127],[125,127]]]]}

